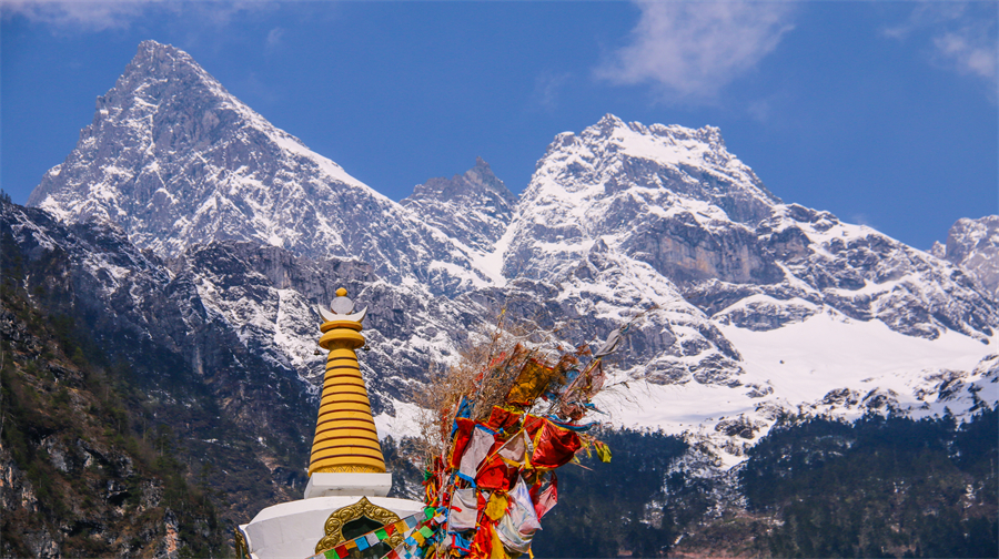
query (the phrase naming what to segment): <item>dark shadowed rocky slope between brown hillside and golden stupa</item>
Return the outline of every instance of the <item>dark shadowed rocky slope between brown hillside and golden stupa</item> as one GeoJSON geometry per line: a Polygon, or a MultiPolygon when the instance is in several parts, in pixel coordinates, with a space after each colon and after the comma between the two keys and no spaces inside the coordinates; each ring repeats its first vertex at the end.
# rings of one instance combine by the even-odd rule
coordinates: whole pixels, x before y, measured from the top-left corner
{"type": "MultiPolygon", "coordinates": [[[[250,510],[301,492],[314,389],[286,357],[272,359],[241,338],[201,298],[198,278],[171,271],[117,227],[67,226],[36,209],[0,204],[0,240],[4,288],[65,325],[80,359],[134,390],[120,409],[133,431],[152,439],[168,429],[192,479],[226,465],[211,476],[224,494],[225,521],[246,521],[250,510]]],[[[12,338],[4,332],[3,339],[12,338]]],[[[33,358],[53,359],[44,346],[33,358]]]]}

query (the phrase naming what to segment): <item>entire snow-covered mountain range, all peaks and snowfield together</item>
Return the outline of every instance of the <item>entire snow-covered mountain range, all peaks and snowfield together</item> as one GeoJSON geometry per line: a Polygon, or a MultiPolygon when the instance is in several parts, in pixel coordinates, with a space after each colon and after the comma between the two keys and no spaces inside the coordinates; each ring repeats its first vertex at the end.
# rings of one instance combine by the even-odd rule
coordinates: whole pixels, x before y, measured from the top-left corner
{"type": "MultiPolygon", "coordinates": [[[[710,126],[607,115],[558,134],[518,199],[478,160],[395,203],[149,41],[29,202],[115,223],[75,227],[120,226],[129,254],[157,253],[157,289],[196,301],[178,303],[167,337],[190,363],[210,348],[184,327],[210,324],[306,395],[322,362],[311,305],[345,285],[371,307],[362,363],[383,434],[406,433],[430,364],[502,309],[571,344],[632,323],[614,363],[628,388],[602,406],[617,425],[710,439],[729,463],[780,410],[999,400],[999,307],[983,281],[781,202],[710,126]]],[[[110,274],[98,295],[138,297],[111,280],[138,272],[100,268],[84,274],[110,274]]]]}

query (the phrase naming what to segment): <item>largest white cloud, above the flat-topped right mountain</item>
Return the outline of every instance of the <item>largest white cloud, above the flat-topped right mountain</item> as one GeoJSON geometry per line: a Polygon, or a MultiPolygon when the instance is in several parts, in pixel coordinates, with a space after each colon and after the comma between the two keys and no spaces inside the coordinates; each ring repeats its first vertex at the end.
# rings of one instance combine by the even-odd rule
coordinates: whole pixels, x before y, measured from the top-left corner
{"type": "Polygon", "coordinates": [[[710,98],[756,67],[794,28],[789,2],[642,1],[630,42],[596,69],[613,83],[654,83],[667,98],[710,98]]]}

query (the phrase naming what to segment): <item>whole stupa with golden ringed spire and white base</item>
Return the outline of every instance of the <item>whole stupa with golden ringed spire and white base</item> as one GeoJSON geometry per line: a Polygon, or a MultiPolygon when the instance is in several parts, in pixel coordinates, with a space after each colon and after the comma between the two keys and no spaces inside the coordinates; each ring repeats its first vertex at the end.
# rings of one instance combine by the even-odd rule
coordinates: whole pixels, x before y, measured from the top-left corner
{"type": "MultiPolygon", "coordinates": [[[[236,556],[305,559],[345,539],[423,510],[423,504],[386,497],[392,474],[379,444],[367,390],[357,364],[366,308],[353,312],[346,291],[336,291],[319,345],[329,352],[322,399],[301,500],[261,510],[236,532],[236,556]]],[[[394,541],[386,541],[394,547],[394,541]]],[[[377,550],[372,549],[376,555],[377,550]]]]}

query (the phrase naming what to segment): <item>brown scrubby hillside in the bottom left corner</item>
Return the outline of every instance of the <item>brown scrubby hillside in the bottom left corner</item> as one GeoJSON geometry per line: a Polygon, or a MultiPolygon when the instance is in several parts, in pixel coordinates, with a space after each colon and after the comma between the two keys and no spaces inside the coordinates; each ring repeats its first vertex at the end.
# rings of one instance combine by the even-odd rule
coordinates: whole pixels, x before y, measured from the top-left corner
{"type": "Polygon", "coordinates": [[[29,293],[50,298],[59,288],[18,285],[37,268],[26,266],[9,241],[4,230],[0,555],[221,553],[223,530],[210,491],[185,480],[188,465],[174,455],[172,431],[134,421],[139,409],[129,402],[137,392],[127,384],[127,365],[109,366],[70,315],[41,312],[29,301],[29,293]]]}

